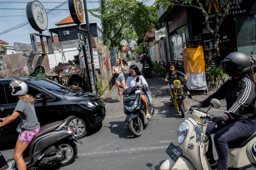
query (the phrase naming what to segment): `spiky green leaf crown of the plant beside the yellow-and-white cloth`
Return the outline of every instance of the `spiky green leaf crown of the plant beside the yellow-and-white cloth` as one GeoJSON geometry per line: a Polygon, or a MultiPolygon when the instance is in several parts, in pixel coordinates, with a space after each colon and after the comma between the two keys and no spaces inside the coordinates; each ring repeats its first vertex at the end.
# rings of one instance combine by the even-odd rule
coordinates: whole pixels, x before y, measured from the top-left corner
{"type": "Polygon", "coordinates": [[[221,67],[216,67],[212,65],[211,67],[205,69],[206,80],[211,81],[213,84],[216,81],[225,81],[228,79],[228,75],[222,72],[221,67]]]}

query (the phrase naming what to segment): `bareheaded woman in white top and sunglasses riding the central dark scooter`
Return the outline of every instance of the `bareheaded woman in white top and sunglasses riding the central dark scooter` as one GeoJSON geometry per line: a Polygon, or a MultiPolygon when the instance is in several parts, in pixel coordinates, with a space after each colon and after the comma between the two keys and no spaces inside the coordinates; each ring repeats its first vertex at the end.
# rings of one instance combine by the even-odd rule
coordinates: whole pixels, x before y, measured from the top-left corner
{"type": "MultiPolygon", "coordinates": [[[[139,71],[139,69],[138,69],[138,67],[137,67],[136,65],[134,65],[134,64],[131,65],[131,66],[130,66],[130,69],[129,69],[129,72],[130,72],[130,73],[129,73],[129,77],[128,77],[127,80],[126,80],[126,86],[125,86],[125,88],[136,86],[136,84],[139,84],[139,88],[142,88],[143,86],[144,86],[144,87],[145,87],[145,86],[148,87],[146,80],[145,80],[144,77],[140,74],[140,71],[139,71]],[[140,80],[139,80],[138,83],[136,82],[137,76],[140,77],[140,80]]],[[[135,94],[137,94],[137,93],[140,93],[140,98],[141,98],[142,104],[143,104],[143,106],[144,106],[144,108],[145,108],[146,116],[147,116],[148,119],[150,119],[151,116],[150,116],[150,114],[149,114],[149,112],[148,112],[148,109],[147,109],[147,99],[146,99],[146,97],[144,96],[144,94],[143,94],[143,92],[142,92],[141,89],[139,89],[139,90],[137,90],[137,91],[135,92],[135,94]]]]}

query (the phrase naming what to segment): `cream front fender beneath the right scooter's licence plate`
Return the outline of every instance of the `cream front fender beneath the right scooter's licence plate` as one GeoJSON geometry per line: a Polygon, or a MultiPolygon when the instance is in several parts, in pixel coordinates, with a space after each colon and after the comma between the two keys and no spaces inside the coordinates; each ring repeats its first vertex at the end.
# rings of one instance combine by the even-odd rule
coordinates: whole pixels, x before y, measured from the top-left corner
{"type": "Polygon", "coordinates": [[[160,170],[182,169],[182,170],[196,170],[194,165],[184,156],[181,155],[176,162],[171,158],[167,159],[159,168],[160,170]]]}

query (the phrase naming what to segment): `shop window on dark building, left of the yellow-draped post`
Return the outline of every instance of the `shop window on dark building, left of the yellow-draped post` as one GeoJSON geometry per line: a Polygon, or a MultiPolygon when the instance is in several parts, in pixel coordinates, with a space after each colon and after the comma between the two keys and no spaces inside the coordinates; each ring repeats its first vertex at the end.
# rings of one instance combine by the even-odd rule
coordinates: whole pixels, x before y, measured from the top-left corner
{"type": "Polygon", "coordinates": [[[176,31],[176,34],[170,37],[172,46],[172,58],[173,60],[182,60],[182,49],[186,47],[186,28],[182,28],[176,31]]]}

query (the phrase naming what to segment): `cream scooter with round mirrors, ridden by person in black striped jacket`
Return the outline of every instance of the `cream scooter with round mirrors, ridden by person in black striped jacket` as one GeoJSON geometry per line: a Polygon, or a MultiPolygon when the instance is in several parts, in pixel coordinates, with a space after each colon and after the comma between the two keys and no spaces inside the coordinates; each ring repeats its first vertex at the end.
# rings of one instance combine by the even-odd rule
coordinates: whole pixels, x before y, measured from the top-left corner
{"type": "MultiPolygon", "coordinates": [[[[187,96],[189,100],[192,98],[189,91],[187,96]]],[[[217,99],[212,99],[211,107],[219,108],[221,103],[217,99]]],[[[163,162],[160,170],[211,170],[205,155],[209,145],[205,131],[208,123],[213,123],[214,116],[198,108],[191,107],[191,111],[192,118],[186,119],[177,130],[178,145],[171,143],[167,148],[166,153],[170,158],[163,162]]],[[[228,147],[228,168],[256,169],[256,132],[248,138],[228,143],[228,147]]]]}

